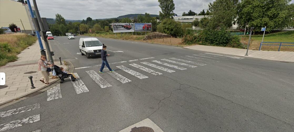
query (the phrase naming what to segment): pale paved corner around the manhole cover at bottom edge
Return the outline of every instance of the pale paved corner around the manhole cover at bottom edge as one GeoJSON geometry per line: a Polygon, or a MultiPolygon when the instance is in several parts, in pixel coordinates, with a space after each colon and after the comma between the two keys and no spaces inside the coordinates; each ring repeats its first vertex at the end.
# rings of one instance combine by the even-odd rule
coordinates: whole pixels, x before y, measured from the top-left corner
{"type": "Polygon", "coordinates": [[[144,119],[138,123],[135,123],[119,132],[163,132],[159,126],[157,126],[149,118],[144,119]]]}

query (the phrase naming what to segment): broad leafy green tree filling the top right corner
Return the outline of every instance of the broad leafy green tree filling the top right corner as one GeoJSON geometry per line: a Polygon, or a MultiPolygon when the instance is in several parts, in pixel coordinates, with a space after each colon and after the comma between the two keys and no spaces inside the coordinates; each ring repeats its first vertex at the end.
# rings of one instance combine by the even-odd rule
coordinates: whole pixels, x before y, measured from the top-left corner
{"type": "Polygon", "coordinates": [[[284,29],[293,24],[293,7],[290,0],[241,0],[237,24],[240,27],[247,24],[258,30],[266,26],[267,31],[284,29]]]}

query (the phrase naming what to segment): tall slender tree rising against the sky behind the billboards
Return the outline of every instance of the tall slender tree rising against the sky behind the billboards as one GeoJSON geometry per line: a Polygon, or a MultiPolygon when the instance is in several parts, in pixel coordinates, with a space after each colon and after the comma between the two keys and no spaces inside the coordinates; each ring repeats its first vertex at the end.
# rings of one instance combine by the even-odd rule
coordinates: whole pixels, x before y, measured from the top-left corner
{"type": "Polygon", "coordinates": [[[174,15],[173,10],[175,10],[175,4],[173,3],[173,0],[158,0],[158,2],[162,11],[159,11],[160,19],[163,20],[166,18],[172,18],[174,15]]]}

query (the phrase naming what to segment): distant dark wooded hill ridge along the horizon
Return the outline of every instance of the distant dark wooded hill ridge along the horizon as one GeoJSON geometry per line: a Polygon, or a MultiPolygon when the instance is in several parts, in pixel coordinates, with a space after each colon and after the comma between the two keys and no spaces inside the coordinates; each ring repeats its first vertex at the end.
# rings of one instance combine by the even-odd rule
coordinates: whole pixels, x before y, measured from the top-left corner
{"type": "MultiPolygon", "coordinates": [[[[116,19],[123,19],[123,18],[130,18],[133,19],[135,17],[138,17],[139,15],[145,16],[145,14],[127,14],[127,15],[123,15],[123,16],[118,16],[116,17],[116,19]]],[[[150,14],[151,17],[159,17],[159,15],[155,15],[155,14],[150,14]]],[[[47,22],[49,24],[54,24],[55,23],[55,19],[54,18],[46,18],[47,22]]],[[[105,19],[97,19],[97,20],[107,20],[107,19],[115,19],[115,18],[105,18],[105,19]]],[[[96,19],[93,19],[96,20],[96,19]]],[[[69,19],[65,19],[66,23],[68,22],[81,22],[82,20],[69,20],[69,19]]]]}

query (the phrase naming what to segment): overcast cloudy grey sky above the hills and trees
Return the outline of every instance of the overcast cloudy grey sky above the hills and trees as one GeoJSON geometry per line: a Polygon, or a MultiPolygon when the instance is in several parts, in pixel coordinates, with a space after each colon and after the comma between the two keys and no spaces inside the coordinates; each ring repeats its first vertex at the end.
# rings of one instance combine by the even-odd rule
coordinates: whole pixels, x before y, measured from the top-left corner
{"type": "MultiPolygon", "coordinates": [[[[174,13],[182,15],[192,10],[200,13],[208,9],[213,0],[174,0],[174,13]]],[[[31,4],[33,4],[31,0],[31,4]]],[[[61,14],[65,19],[82,20],[115,18],[126,14],[159,14],[158,0],[37,0],[41,17],[55,18],[61,14]]]]}

